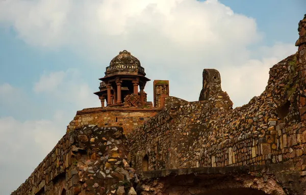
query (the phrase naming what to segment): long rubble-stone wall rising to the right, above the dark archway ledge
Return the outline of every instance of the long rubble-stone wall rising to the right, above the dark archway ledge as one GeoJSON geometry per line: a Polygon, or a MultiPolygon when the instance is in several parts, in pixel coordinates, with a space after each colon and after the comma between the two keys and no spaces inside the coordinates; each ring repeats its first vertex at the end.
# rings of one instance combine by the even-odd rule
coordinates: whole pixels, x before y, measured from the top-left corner
{"type": "Polygon", "coordinates": [[[305,174],[305,66],[297,54],[273,66],[266,90],[242,107],[226,109],[224,92],[199,102],[167,99],[165,110],[130,135],[133,167],[141,170],[145,155],[149,170],[298,158],[296,169],[305,174]]]}

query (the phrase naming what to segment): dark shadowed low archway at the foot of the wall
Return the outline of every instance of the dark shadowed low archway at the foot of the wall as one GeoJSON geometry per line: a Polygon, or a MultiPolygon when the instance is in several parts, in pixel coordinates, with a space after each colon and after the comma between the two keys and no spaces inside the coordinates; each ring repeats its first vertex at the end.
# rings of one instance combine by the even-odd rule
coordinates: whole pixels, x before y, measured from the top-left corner
{"type": "MultiPolygon", "coordinates": [[[[189,170],[190,171],[190,170],[189,170]]],[[[231,174],[182,174],[168,173],[157,180],[146,180],[144,185],[160,194],[184,195],[285,195],[282,186],[272,178],[231,174]]],[[[184,171],[181,171],[184,173],[184,171]]],[[[157,177],[158,173],[144,173],[157,177]]],[[[153,194],[153,193],[147,193],[153,194]]]]}

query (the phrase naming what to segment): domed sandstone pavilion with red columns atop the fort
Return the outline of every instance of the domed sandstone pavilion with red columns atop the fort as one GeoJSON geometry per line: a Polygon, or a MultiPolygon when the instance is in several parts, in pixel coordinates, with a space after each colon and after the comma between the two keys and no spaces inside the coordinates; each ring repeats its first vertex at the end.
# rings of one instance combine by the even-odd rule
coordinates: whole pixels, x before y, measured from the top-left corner
{"type": "Polygon", "coordinates": [[[123,50],[113,58],[110,66],[106,67],[105,76],[99,78],[100,87],[95,92],[104,107],[105,99],[107,106],[123,106],[124,98],[127,95],[138,95],[138,86],[140,89],[140,103],[144,105],[144,87],[149,81],[145,77],[144,68],[140,62],[129,51],[123,50]]]}

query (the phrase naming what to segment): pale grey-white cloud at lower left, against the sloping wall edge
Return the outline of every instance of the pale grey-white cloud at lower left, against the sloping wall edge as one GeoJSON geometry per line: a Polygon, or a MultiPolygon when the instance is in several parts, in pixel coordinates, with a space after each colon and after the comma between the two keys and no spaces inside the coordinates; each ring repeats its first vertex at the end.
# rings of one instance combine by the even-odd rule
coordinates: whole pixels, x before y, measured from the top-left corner
{"type": "Polygon", "coordinates": [[[2,194],[17,189],[54,148],[65,134],[65,119],[20,122],[13,117],[0,118],[2,194]]]}

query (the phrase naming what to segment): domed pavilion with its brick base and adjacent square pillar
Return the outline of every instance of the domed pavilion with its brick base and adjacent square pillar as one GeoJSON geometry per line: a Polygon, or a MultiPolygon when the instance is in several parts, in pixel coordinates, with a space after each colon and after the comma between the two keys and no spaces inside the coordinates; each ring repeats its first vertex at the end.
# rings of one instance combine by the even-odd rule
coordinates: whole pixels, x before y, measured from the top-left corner
{"type": "Polygon", "coordinates": [[[153,106],[144,92],[146,83],[150,81],[145,75],[137,58],[129,51],[120,51],[106,67],[105,76],[99,78],[99,91],[94,94],[99,97],[101,107],[78,111],[67,126],[67,132],[82,125],[96,124],[98,127],[121,126],[125,134],[155,116],[169,96],[169,81],[154,80],[153,106]]]}

